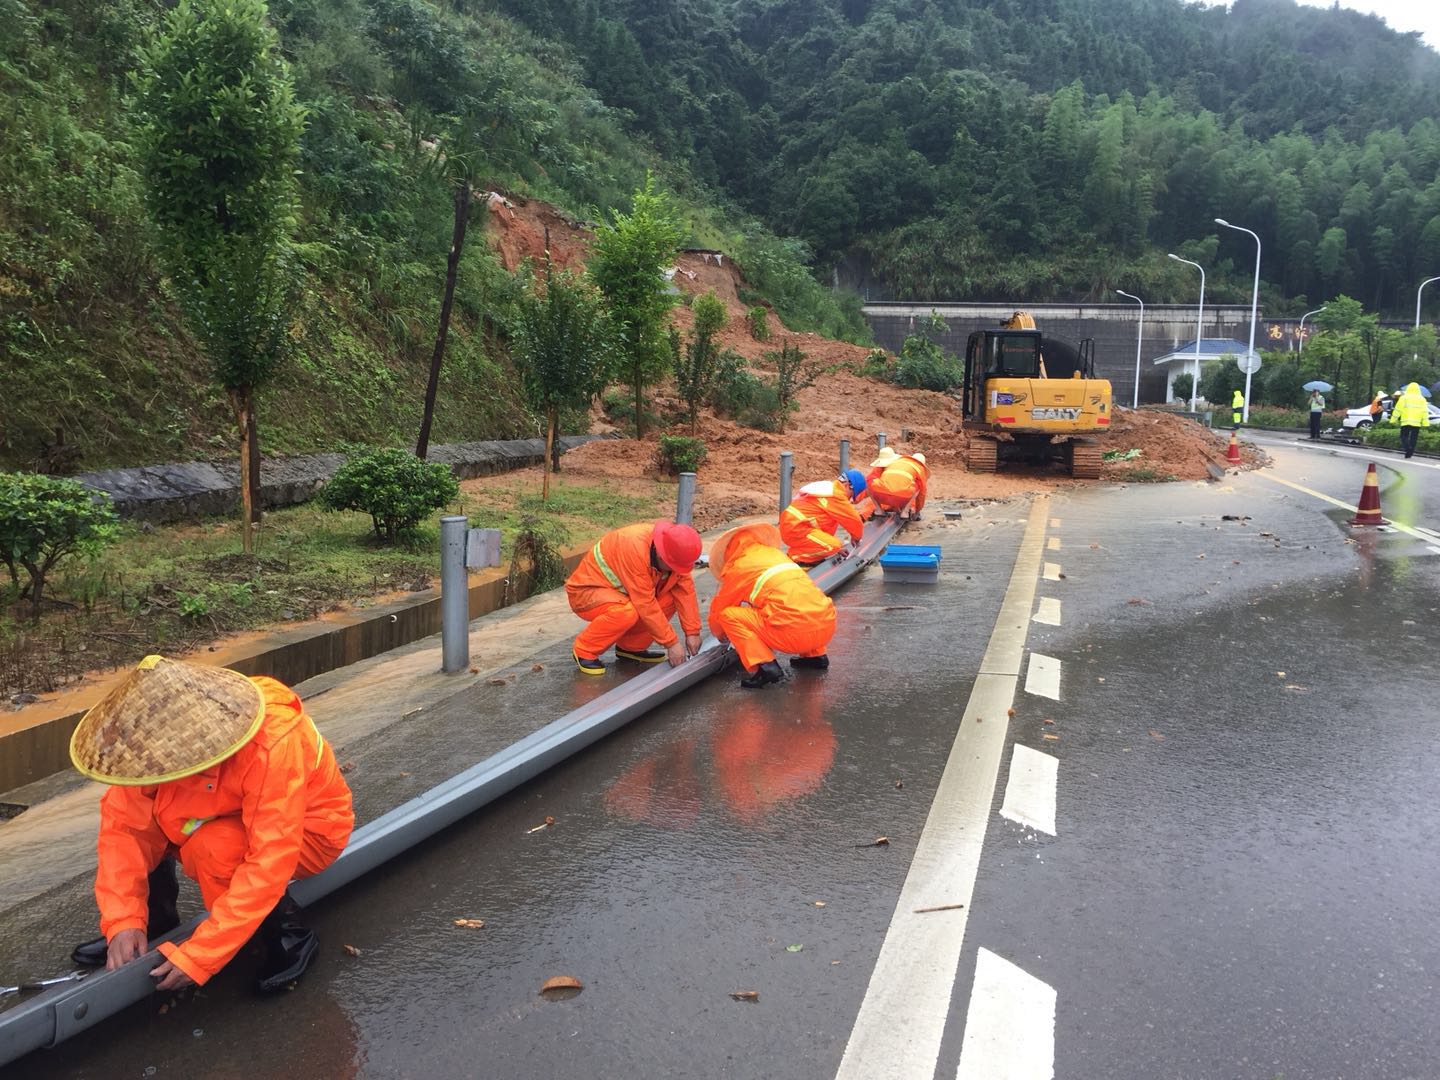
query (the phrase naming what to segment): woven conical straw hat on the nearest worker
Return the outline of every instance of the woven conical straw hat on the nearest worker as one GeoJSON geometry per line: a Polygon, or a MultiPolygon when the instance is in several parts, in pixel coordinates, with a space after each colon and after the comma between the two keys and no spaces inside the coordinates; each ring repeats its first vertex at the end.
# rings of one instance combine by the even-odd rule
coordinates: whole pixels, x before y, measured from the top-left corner
{"type": "Polygon", "coordinates": [[[204,772],[259,730],[265,698],[238,671],[145,657],[71,736],[75,768],[140,786],[204,772]]]}

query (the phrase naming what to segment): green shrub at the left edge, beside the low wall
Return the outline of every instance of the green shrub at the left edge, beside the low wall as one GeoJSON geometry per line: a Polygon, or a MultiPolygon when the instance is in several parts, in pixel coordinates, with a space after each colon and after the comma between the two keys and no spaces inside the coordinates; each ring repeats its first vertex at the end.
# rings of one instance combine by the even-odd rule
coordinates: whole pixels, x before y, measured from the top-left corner
{"type": "Polygon", "coordinates": [[[78,480],[0,472],[0,562],[40,616],[45,577],[72,554],[95,554],[115,539],[109,495],[78,480]],[[30,576],[20,585],[20,570],[30,576]]]}

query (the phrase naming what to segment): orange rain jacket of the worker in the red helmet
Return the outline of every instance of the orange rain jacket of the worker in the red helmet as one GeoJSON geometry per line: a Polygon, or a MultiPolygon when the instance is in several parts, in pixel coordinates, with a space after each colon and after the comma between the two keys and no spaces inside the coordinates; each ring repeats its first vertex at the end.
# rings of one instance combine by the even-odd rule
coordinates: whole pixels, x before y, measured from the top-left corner
{"type": "Polygon", "coordinates": [[[580,559],[564,583],[564,592],[575,612],[628,600],[655,644],[670,648],[680,638],[661,611],[661,602],[667,596],[674,598],[680,628],[685,634],[700,634],[700,603],[696,600],[696,582],[688,573],[661,573],[651,566],[654,534],[654,521],[606,533],[580,559]]]}

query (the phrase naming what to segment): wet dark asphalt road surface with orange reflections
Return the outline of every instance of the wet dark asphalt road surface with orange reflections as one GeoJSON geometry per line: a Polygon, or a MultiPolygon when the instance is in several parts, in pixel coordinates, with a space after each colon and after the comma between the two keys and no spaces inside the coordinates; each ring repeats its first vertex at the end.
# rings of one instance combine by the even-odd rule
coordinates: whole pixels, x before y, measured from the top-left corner
{"type": "MultiPolygon", "coordinates": [[[[1267,449],[1276,477],[1358,498],[1365,458],[1267,449]]],[[[1377,459],[1385,513],[1440,528],[1437,471],[1377,459]]],[[[960,1066],[986,949],[1054,989],[1060,1077],[1436,1076],[1440,554],[1266,474],[1048,513],[1064,576],[1038,595],[1063,621],[1028,645],[1061,662],[1060,700],[1017,696],[995,808],[1012,746],[1041,750],[1057,835],[991,814],[935,1074],[960,1066]]],[[[907,539],[945,547],[940,585],[851,585],[825,675],[711,680],[318,906],[297,992],[256,1002],[242,958],[7,1074],[834,1076],[1024,507],[926,531],[907,539]],[[543,1001],[560,973],[585,991],[543,1001]]],[[[356,747],[364,816],[569,707],[563,657],[540,661],[356,747]]]]}

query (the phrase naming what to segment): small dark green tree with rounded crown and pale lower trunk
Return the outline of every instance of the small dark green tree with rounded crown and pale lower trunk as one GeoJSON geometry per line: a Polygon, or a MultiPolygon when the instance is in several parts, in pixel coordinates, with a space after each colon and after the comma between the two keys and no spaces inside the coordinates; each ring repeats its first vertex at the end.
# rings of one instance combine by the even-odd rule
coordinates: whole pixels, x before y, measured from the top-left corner
{"type": "Polygon", "coordinates": [[[603,298],[583,279],[552,272],[547,261],[544,278],[520,298],[510,354],[520,369],[526,402],[544,416],[540,497],[547,500],[560,409],[589,405],[611,373],[612,327],[603,298]]]}

